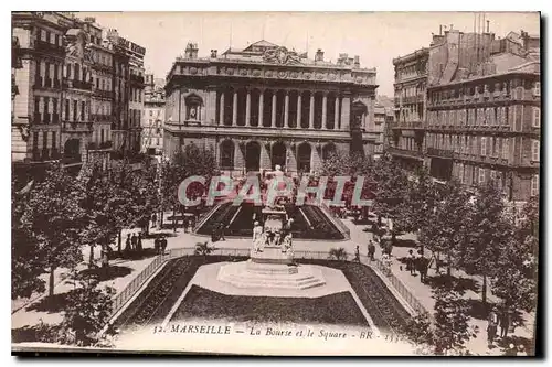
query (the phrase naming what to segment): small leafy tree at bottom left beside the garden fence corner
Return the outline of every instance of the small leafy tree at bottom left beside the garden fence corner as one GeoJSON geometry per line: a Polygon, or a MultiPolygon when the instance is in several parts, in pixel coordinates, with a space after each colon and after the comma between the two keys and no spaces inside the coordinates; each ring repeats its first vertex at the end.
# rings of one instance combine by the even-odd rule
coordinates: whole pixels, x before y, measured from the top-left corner
{"type": "Polygon", "coordinates": [[[108,323],[115,290],[98,289],[96,277],[73,273],[74,290],[67,294],[67,306],[61,323],[62,343],[92,346],[100,342],[98,333],[108,323]]]}

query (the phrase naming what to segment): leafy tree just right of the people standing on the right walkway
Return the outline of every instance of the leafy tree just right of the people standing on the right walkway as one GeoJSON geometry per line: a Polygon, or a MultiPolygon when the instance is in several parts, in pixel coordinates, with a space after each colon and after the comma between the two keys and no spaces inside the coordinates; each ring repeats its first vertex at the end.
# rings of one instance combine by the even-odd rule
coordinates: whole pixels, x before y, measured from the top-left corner
{"type": "MultiPolygon", "coordinates": [[[[432,194],[434,195],[434,194],[432,194]]],[[[420,215],[424,219],[420,230],[420,242],[424,244],[436,255],[436,269],[439,271],[440,255],[447,259],[447,273],[450,276],[453,265],[459,263],[461,252],[466,247],[466,236],[470,223],[471,214],[469,203],[470,194],[466,192],[456,180],[447,182],[443,188],[440,202],[433,202],[436,196],[429,199],[428,211],[420,215]]]]}

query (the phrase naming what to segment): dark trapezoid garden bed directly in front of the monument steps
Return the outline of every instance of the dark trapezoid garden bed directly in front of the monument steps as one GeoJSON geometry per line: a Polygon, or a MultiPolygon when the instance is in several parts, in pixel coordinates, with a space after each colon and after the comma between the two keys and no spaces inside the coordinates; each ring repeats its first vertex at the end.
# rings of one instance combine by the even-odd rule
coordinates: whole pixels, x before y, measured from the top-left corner
{"type": "Polygon", "coordinates": [[[171,321],[195,317],[233,322],[368,326],[349,292],[316,299],[248,296],[226,295],[192,285],[171,321]]]}

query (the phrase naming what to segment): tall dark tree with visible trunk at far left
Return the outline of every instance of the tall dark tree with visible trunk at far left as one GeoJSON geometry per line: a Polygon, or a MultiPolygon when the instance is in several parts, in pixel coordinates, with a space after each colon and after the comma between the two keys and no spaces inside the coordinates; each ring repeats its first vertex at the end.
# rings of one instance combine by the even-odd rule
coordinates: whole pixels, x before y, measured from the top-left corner
{"type": "Polygon", "coordinates": [[[21,217],[22,227],[40,246],[42,271],[50,272],[50,295],[54,293],[55,269],[74,268],[82,260],[79,231],[84,214],[79,201],[75,180],[53,164],[45,180],[31,190],[21,217]]]}

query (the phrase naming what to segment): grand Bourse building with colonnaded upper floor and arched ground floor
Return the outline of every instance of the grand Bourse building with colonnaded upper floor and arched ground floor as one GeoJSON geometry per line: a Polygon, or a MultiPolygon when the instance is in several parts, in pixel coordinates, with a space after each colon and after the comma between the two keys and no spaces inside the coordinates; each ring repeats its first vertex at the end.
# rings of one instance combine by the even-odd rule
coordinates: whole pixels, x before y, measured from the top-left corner
{"type": "Polygon", "coordinates": [[[163,149],[210,149],[223,171],[315,172],[331,152],[381,152],[375,68],[259,41],[198,57],[189,43],[167,77],[163,149]]]}

